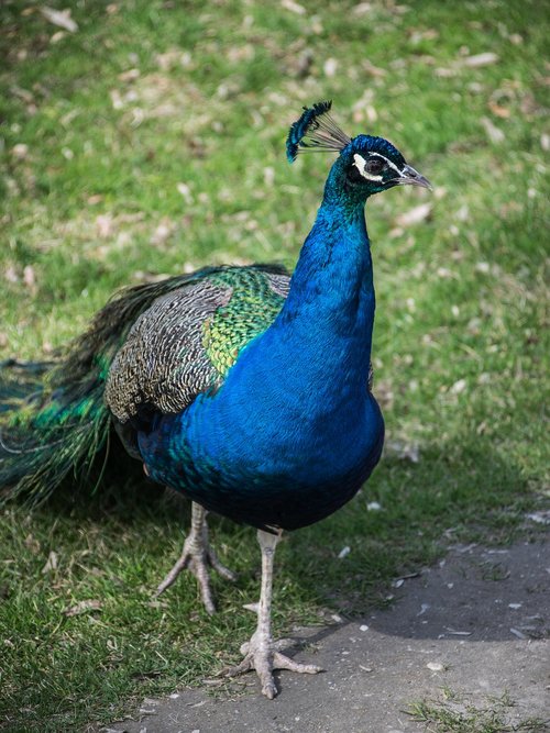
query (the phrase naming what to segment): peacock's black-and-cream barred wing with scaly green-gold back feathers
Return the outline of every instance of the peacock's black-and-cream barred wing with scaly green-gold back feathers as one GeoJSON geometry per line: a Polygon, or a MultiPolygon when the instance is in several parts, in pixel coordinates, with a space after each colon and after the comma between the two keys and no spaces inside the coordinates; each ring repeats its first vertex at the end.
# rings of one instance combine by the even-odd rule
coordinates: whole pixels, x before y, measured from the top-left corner
{"type": "Polygon", "coordinates": [[[282,271],[224,268],[154,300],[109,369],[105,399],[117,421],[175,414],[217,389],[240,351],[271,325],[288,284],[282,271]]]}

